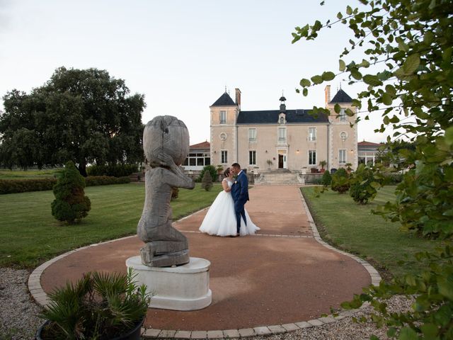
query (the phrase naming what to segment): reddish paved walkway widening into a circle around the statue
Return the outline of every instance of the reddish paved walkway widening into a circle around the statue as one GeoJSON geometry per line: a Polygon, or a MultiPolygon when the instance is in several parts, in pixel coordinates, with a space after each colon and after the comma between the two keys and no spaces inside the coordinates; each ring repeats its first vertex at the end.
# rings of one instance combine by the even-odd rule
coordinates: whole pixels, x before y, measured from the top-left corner
{"type": "MultiPolygon", "coordinates": [[[[261,228],[256,235],[201,234],[197,230],[207,210],[175,223],[189,239],[190,256],[211,261],[212,305],[192,312],[149,309],[144,324],[151,329],[149,336],[159,334],[152,329],[170,330],[159,336],[188,331],[180,331],[181,337],[202,331],[201,338],[206,331],[219,336],[222,331],[212,332],[219,329],[236,330],[224,336],[244,335],[237,331],[244,329],[272,331],[265,327],[270,325],[286,331],[329,314],[330,307],[338,308],[362,287],[379,283],[368,263],[323,244],[297,186],[255,186],[250,196],[246,208],[261,228]]],[[[126,259],[138,255],[141,246],[137,237],[127,237],[71,251],[38,267],[30,276],[30,291],[44,303],[42,290],[49,293],[86,271],[125,272],[126,259]]]]}

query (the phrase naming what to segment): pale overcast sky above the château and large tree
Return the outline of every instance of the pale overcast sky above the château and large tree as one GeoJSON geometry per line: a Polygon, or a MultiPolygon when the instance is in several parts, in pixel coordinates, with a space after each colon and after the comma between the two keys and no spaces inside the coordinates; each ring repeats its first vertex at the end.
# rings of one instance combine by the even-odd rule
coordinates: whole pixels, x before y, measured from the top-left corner
{"type": "MultiPolygon", "coordinates": [[[[325,22],[350,0],[0,0],[0,96],[42,86],[57,67],[105,69],[145,95],[142,120],[175,115],[190,143],[210,138],[209,106],[226,90],[242,92],[241,108],[276,110],[323,106],[326,84],[309,96],[302,78],[338,72],[338,55],[351,38],[343,26],[314,42],[292,45],[295,26],[325,22]]],[[[348,60],[346,60],[348,61],[348,60]]],[[[361,85],[331,81],[351,97],[361,85]]],[[[3,101],[0,101],[3,110],[3,101]]],[[[379,114],[378,114],[379,115],[379,114]]],[[[379,117],[359,123],[358,140],[382,142],[379,117]]]]}

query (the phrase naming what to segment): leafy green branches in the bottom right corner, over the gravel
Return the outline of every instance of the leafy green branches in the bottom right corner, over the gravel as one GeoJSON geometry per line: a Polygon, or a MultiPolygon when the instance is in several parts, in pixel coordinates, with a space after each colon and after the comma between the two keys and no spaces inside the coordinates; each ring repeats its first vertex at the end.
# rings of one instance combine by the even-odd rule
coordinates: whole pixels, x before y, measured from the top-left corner
{"type": "MultiPolygon", "coordinates": [[[[377,313],[371,319],[378,327],[389,327],[387,336],[396,339],[453,339],[453,249],[450,246],[435,253],[415,255],[425,266],[418,275],[406,274],[379,287],[364,288],[354,300],[343,302],[342,307],[357,308],[369,302],[377,313]],[[411,295],[415,302],[407,312],[391,312],[386,298],[391,295],[411,295]]],[[[365,322],[366,318],[359,319],[365,322]]],[[[375,336],[372,339],[377,339],[375,336]]]]}

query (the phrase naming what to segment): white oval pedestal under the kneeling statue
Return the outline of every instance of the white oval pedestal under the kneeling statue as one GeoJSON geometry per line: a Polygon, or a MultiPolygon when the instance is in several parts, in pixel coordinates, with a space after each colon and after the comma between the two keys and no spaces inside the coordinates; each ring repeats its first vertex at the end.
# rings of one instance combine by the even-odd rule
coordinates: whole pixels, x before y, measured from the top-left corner
{"type": "Polygon", "coordinates": [[[141,256],[126,260],[139,285],[147,285],[153,296],[149,307],[164,310],[201,310],[211,304],[210,261],[191,257],[190,262],[177,267],[149,267],[141,256]]]}

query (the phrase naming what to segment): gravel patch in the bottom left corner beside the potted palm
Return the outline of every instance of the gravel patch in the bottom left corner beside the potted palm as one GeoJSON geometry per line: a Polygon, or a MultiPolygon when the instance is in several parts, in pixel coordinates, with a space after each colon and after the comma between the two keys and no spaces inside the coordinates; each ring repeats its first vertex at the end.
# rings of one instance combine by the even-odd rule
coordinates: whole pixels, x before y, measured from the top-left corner
{"type": "Polygon", "coordinates": [[[30,273],[0,268],[0,339],[33,339],[42,319],[41,308],[27,288],[30,273]]]}

